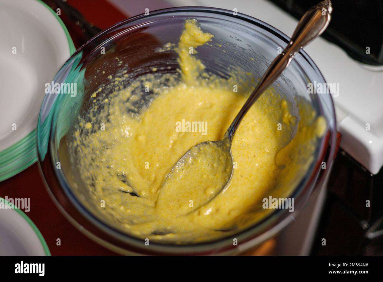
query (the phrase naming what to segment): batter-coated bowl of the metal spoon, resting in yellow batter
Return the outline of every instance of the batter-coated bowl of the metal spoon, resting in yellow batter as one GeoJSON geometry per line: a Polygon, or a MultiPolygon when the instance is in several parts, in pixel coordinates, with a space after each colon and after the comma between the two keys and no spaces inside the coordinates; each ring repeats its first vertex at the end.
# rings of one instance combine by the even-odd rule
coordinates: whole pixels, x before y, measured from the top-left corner
{"type": "Polygon", "coordinates": [[[191,147],[166,176],[156,209],[181,216],[210,202],[226,189],[233,174],[231,142],[206,141],[191,147]],[[170,200],[169,200],[170,199],[170,200]]]}

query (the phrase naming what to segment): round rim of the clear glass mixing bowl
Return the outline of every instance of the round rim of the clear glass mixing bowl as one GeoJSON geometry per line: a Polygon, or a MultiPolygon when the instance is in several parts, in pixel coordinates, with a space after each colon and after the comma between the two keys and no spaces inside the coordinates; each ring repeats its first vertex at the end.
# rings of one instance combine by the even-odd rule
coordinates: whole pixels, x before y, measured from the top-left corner
{"type": "MultiPolygon", "coordinates": [[[[140,20],[142,18],[151,19],[154,16],[159,16],[159,15],[163,15],[163,14],[171,14],[171,13],[179,13],[179,12],[210,13],[210,14],[218,14],[218,15],[223,15],[223,16],[234,17],[238,20],[244,20],[248,23],[259,26],[260,28],[267,31],[268,33],[271,33],[272,35],[277,36],[281,40],[285,41],[286,44],[290,41],[290,38],[288,36],[286,36],[284,33],[279,31],[278,29],[274,28],[273,26],[271,26],[271,25],[269,25],[269,24],[267,24],[261,20],[258,20],[254,17],[248,16],[248,15],[245,15],[242,13],[237,13],[237,15],[234,16],[231,10],[225,10],[225,9],[221,9],[221,8],[212,8],[212,7],[198,7],[198,6],[166,8],[166,9],[152,11],[152,12],[150,12],[150,15],[142,14],[142,15],[134,16],[132,18],[120,21],[120,22],[116,23],[115,25],[110,26],[106,30],[101,31],[101,33],[94,36],[93,38],[88,40],[84,45],[82,45],[79,49],[77,49],[77,51],[68,59],[67,63],[65,63],[65,65],[62,67],[62,69],[64,69],[66,66],[69,67],[69,65],[70,65],[69,63],[72,61],[72,59],[75,58],[77,56],[77,54],[81,53],[82,50],[85,48],[85,46],[87,46],[92,40],[107,34],[109,31],[114,30],[115,28],[117,28],[119,26],[125,25],[127,23],[132,23],[132,22],[134,22],[136,20],[140,20]]],[[[190,17],[192,17],[192,16],[190,16],[190,17]]],[[[109,38],[106,38],[104,40],[109,40],[109,38]]],[[[100,45],[100,46],[102,46],[102,45],[100,45]]],[[[100,46],[98,46],[96,48],[100,48],[100,46]]],[[[94,49],[92,50],[92,52],[93,51],[94,51],[94,49]]],[[[307,63],[309,63],[309,65],[313,68],[314,72],[318,75],[318,77],[321,78],[321,80],[323,82],[326,82],[323,75],[319,71],[318,67],[316,66],[314,61],[308,56],[308,54],[303,50],[300,51],[300,54],[303,56],[305,61],[307,63]]],[[[299,63],[298,63],[298,66],[300,66],[299,63]]],[[[61,70],[59,71],[59,73],[61,72],[61,70]]],[[[331,109],[330,110],[332,112],[332,117],[331,117],[332,118],[332,120],[331,120],[332,121],[332,127],[331,128],[333,130],[332,130],[332,132],[328,132],[331,135],[330,136],[331,140],[328,140],[327,142],[325,142],[325,137],[322,138],[322,142],[320,142],[320,145],[318,147],[319,148],[318,156],[314,159],[313,163],[311,163],[308,171],[303,176],[303,179],[300,181],[300,183],[297,185],[297,187],[291,193],[290,197],[293,197],[293,198],[298,198],[299,196],[305,196],[304,199],[302,200],[302,204],[296,205],[296,206],[299,206],[298,208],[296,208],[296,210],[300,209],[301,206],[306,202],[308,196],[311,195],[313,188],[314,188],[313,185],[315,184],[314,181],[324,178],[323,175],[327,173],[328,170],[325,170],[325,172],[322,172],[322,170],[318,170],[318,167],[319,167],[319,163],[321,163],[321,161],[326,157],[325,155],[326,155],[326,152],[328,150],[328,147],[330,147],[330,151],[328,152],[328,155],[327,155],[327,159],[329,160],[329,162],[326,162],[326,163],[328,163],[329,167],[330,167],[330,164],[332,163],[332,160],[334,159],[335,149],[336,149],[335,148],[336,147],[335,146],[335,140],[336,140],[335,108],[334,108],[334,103],[332,101],[331,94],[328,94],[328,95],[330,96],[330,100],[331,100],[331,105],[330,105],[331,109]],[[306,191],[306,190],[309,190],[309,191],[306,191]],[[303,195],[304,191],[306,191],[306,195],[303,195]],[[309,192],[309,193],[307,193],[307,192],[309,192]]],[[[43,106],[44,106],[44,103],[43,103],[43,106]]],[[[321,103],[319,103],[318,106],[321,109],[321,103]]],[[[42,109],[43,109],[43,107],[42,107],[42,109]]],[[[49,143],[51,143],[53,130],[54,129],[51,127],[50,135],[49,135],[49,140],[50,140],[49,143]]],[[[330,131],[329,125],[328,125],[328,131],[330,131]]],[[[327,133],[327,135],[328,135],[328,133],[327,133]]],[[[38,134],[38,138],[39,138],[39,134],[38,134]]],[[[49,151],[49,154],[50,154],[50,157],[52,157],[52,150],[53,150],[52,148],[54,148],[54,146],[50,145],[50,147],[51,147],[51,150],[49,151]]],[[[43,170],[41,169],[41,163],[44,160],[41,160],[40,157],[41,156],[39,154],[40,171],[44,177],[43,170]]],[[[53,162],[53,160],[52,160],[52,162],[53,162]]],[[[53,165],[53,163],[51,164],[51,166],[52,165],[53,165]]],[[[192,244],[170,244],[167,242],[161,243],[161,242],[151,241],[150,246],[140,247],[139,244],[142,244],[142,242],[143,242],[142,239],[139,239],[138,237],[134,237],[128,233],[124,233],[124,232],[114,228],[113,226],[110,226],[109,224],[105,223],[104,221],[98,219],[97,216],[95,216],[91,211],[89,211],[87,208],[85,208],[85,206],[74,195],[74,193],[70,189],[69,184],[66,181],[64,174],[61,171],[57,172],[56,169],[53,169],[53,170],[54,170],[54,173],[56,175],[56,178],[58,179],[59,186],[61,187],[61,190],[64,191],[67,198],[69,198],[70,203],[73,206],[75,206],[77,211],[82,216],[84,216],[86,219],[88,219],[88,221],[90,221],[93,225],[97,226],[98,228],[103,227],[104,228],[104,229],[102,229],[103,232],[110,234],[112,237],[115,237],[116,239],[120,239],[120,240],[124,241],[126,244],[133,247],[133,249],[138,249],[139,252],[142,252],[142,253],[148,253],[149,252],[149,253],[155,253],[155,254],[163,254],[163,253],[169,254],[169,253],[179,253],[180,251],[183,251],[184,253],[187,253],[187,254],[195,254],[195,253],[206,254],[206,253],[211,253],[211,249],[214,249],[215,245],[223,244],[224,242],[227,242],[227,243],[231,242],[231,244],[227,244],[228,246],[226,246],[226,244],[223,244],[226,247],[222,247],[222,246],[219,247],[220,252],[226,251],[228,249],[233,249],[233,247],[234,248],[238,247],[238,249],[240,249],[239,246],[245,245],[245,244],[250,244],[250,242],[252,242],[253,245],[257,244],[257,242],[258,243],[263,242],[265,239],[275,235],[277,232],[280,231],[280,229],[282,229],[284,226],[286,226],[288,223],[290,223],[293,220],[293,218],[291,216],[286,215],[283,217],[283,213],[286,213],[285,210],[275,209],[274,211],[270,212],[267,216],[265,216],[265,218],[263,218],[262,220],[258,221],[257,223],[255,223],[251,226],[248,226],[247,228],[245,228],[245,229],[243,229],[237,233],[231,234],[230,236],[219,237],[218,239],[214,239],[211,241],[198,242],[198,243],[192,243],[192,244]],[[59,175],[60,173],[62,175],[59,175]],[[272,220],[272,219],[274,219],[274,220],[272,220]],[[270,227],[270,225],[274,222],[277,222],[277,224],[275,224],[271,228],[267,229],[267,227],[270,227]],[[260,232],[260,234],[256,234],[255,237],[249,238],[252,236],[252,234],[254,235],[254,233],[257,233],[254,231],[262,225],[266,225],[266,228],[262,228],[262,231],[260,232]],[[233,236],[236,236],[236,237],[244,236],[244,239],[241,241],[241,243],[238,242],[238,246],[233,246],[232,240],[231,240],[233,236]],[[128,240],[128,242],[127,242],[127,240],[128,240]],[[209,248],[206,248],[207,246],[209,246],[209,248]],[[198,247],[205,247],[205,249],[203,251],[201,251],[201,250],[198,250],[198,247]],[[170,250],[165,250],[165,248],[169,248],[170,250]]],[[[56,181],[57,181],[57,179],[56,179],[56,181]]],[[[52,197],[55,197],[53,195],[53,193],[50,191],[50,188],[47,185],[47,183],[46,183],[46,186],[47,186],[47,190],[50,192],[49,194],[52,197]]],[[[54,199],[54,200],[56,200],[56,201],[54,201],[56,204],[59,204],[58,199],[54,199]]],[[[62,211],[62,209],[61,209],[61,211],[62,211]]],[[[64,214],[66,216],[70,217],[70,215],[68,213],[64,213],[64,214]]],[[[70,220],[70,219],[69,220],[73,223],[74,219],[73,218],[71,218],[71,219],[72,220],[70,220]]],[[[100,238],[98,238],[98,239],[100,239],[100,238]]],[[[102,239],[101,239],[101,241],[102,241],[102,239]]]]}

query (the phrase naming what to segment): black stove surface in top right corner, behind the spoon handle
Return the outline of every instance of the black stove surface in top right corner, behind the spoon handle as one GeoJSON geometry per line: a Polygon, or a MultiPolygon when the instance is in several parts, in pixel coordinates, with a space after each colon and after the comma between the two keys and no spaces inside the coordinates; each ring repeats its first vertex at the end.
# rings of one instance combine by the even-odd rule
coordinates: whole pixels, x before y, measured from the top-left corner
{"type": "MultiPolygon", "coordinates": [[[[319,0],[269,0],[300,19],[319,0]]],[[[353,59],[383,65],[383,0],[332,0],[331,22],[322,36],[353,59]],[[370,54],[366,47],[370,47],[370,54]]]]}

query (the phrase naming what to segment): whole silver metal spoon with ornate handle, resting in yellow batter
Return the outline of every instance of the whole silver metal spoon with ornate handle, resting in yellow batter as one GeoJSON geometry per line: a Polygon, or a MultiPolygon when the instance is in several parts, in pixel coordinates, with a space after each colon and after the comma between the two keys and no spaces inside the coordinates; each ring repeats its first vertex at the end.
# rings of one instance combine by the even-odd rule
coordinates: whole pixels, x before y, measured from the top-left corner
{"type": "Polygon", "coordinates": [[[308,10],[296,26],[290,43],[270,64],[223,139],[199,143],[180,158],[162,185],[156,204],[160,211],[172,212],[175,216],[187,214],[208,203],[224,190],[233,174],[231,142],[242,118],[262,92],[288,67],[295,54],[326,30],[331,12],[329,0],[308,10]],[[198,171],[201,175],[198,175],[198,171]],[[197,177],[193,174],[195,172],[197,177]],[[213,173],[213,178],[205,180],[206,172],[213,173]],[[215,172],[218,172],[218,177],[214,177],[215,172]],[[190,175],[193,177],[188,178],[190,175]],[[198,180],[203,180],[204,185],[199,185],[198,180]]]}

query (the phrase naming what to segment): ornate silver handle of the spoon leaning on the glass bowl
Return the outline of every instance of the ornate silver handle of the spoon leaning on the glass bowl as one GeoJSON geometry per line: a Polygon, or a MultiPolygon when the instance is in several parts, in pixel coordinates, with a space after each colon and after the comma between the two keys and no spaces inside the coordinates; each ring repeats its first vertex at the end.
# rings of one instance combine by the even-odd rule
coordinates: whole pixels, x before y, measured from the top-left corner
{"type": "Polygon", "coordinates": [[[331,20],[331,13],[331,1],[326,0],[312,7],[303,15],[296,26],[287,47],[270,64],[254,91],[250,94],[249,99],[247,99],[246,103],[230,125],[225,134],[225,137],[227,137],[230,142],[242,118],[254,102],[257,101],[260,94],[262,94],[262,92],[264,92],[280,76],[282,71],[288,67],[295,54],[300,51],[301,48],[313,41],[326,30],[331,20]]]}

